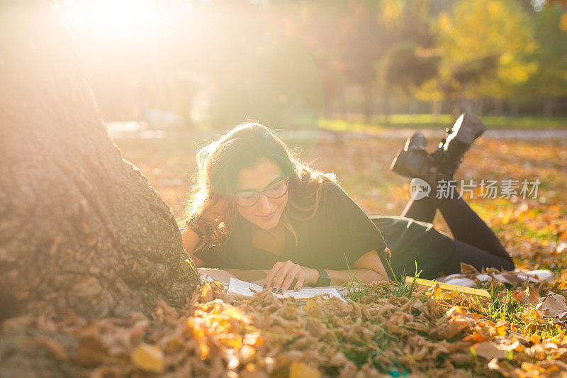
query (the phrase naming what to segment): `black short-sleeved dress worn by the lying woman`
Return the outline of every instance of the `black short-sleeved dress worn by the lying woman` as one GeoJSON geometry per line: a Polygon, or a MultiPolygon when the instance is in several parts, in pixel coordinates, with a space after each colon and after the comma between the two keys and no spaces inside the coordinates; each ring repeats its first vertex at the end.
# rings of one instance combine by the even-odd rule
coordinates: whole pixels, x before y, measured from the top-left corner
{"type": "Polygon", "coordinates": [[[291,260],[305,267],[344,270],[352,268],[366,252],[376,250],[389,275],[388,264],[397,275],[404,269],[413,274],[417,260],[418,268],[424,270],[421,277],[435,277],[442,270],[439,267],[454,255],[453,240],[431,223],[392,216],[371,219],[332,182],[324,185],[315,215],[291,223],[298,242],[286,230],[286,245],[280,255],[252,245],[251,223],[240,214],[222,246],[198,250],[195,255],[205,267],[220,269],[271,269],[278,261],[291,260]],[[392,252],[389,262],[383,253],[386,244],[392,252]]]}

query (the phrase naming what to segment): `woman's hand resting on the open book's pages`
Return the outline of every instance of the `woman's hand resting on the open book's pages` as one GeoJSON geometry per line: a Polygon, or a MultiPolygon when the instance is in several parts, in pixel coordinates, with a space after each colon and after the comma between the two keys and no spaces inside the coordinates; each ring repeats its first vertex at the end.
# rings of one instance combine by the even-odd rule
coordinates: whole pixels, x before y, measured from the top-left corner
{"type": "Polygon", "coordinates": [[[283,293],[291,287],[293,281],[296,282],[294,290],[299,291],[303,284],[314,284],[317,282],[319,272],[316,269],[302,267],[288,260],[286,262],[276,262],[274,267],[268,272],[266,277],[266,287],[271,287],[274,293],[283,293]]]}

